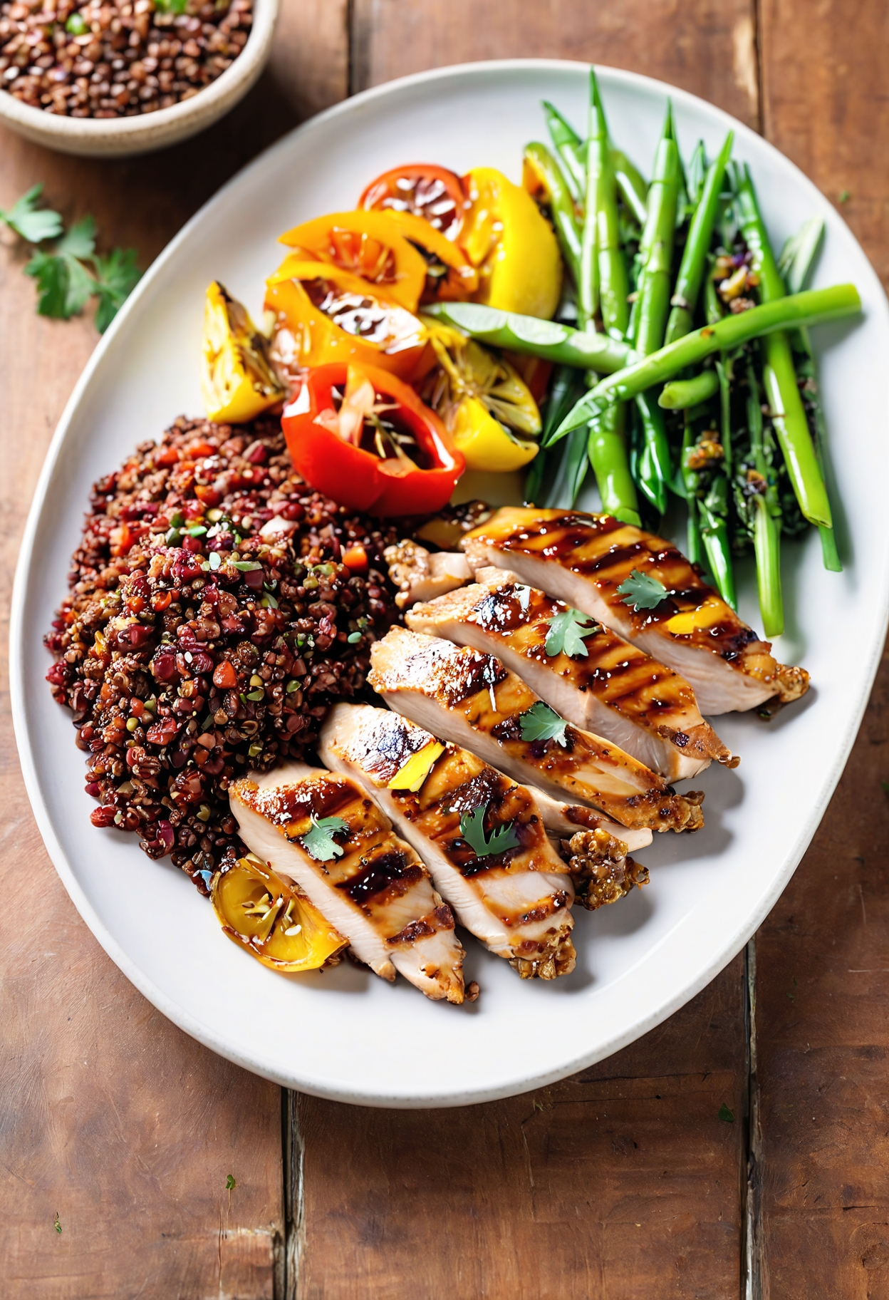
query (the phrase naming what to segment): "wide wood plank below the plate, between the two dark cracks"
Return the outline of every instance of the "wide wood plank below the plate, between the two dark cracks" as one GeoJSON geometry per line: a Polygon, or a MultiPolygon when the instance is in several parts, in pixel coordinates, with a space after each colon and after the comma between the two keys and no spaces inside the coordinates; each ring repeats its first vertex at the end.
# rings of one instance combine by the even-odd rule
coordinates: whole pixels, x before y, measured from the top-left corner
{"type": "Polygon", "coordinates": [[[299,1300],[738,1295],[743,1014],[740,957],[633,1046],[522,1097],[299,1097],[299,1300]]]}

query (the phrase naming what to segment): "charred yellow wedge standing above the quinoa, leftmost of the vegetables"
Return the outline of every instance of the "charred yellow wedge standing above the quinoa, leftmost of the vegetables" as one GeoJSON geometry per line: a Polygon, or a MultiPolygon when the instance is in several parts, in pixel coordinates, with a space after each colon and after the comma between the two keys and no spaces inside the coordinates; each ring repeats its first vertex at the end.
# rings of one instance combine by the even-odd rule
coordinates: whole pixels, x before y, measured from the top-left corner
{"type": "Polygon", "coordinates": [[[207,419],[244,424],[289,396],[268,359],[268,339],[218,281],[207,290],[200,386],[207,419]]]}

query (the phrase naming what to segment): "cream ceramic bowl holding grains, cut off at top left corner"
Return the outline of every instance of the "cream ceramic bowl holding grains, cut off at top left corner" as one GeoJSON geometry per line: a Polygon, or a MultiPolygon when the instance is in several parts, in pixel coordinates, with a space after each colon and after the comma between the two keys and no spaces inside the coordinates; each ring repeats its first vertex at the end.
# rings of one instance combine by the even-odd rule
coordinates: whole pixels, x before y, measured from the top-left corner
{"type": "Polygon", "coordinates": [[[196,135],[243,99],[263,72],[278,0],[253,0],[253,26],[247,44],[221,77],[172,108],[138,117],[62,117],[22,104],[0,90],[0,122],[35,144],[87,157],[148,153],[196,135]]]}

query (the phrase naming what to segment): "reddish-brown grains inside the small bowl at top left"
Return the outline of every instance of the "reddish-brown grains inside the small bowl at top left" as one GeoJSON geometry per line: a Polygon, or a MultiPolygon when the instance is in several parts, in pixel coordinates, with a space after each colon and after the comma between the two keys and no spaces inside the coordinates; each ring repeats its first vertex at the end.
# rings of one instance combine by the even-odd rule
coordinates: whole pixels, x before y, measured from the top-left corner
{"type": "Polygon", "coordinates": [[[135,117],[209,86],[247,44],[253,0],[0,4],[0,86],[68,117],[135,117]]]}

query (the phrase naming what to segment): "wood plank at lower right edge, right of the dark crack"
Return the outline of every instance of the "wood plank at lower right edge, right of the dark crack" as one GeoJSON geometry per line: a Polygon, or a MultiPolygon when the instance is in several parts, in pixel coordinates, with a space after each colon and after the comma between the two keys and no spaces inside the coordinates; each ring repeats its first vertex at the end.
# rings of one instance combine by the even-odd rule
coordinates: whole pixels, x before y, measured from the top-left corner
{"type": "Polygon", "coordinates": [[[764,1297],[889,1294],[888,741],[884,658],[824,822],[756,936],[764,1297]]]}

